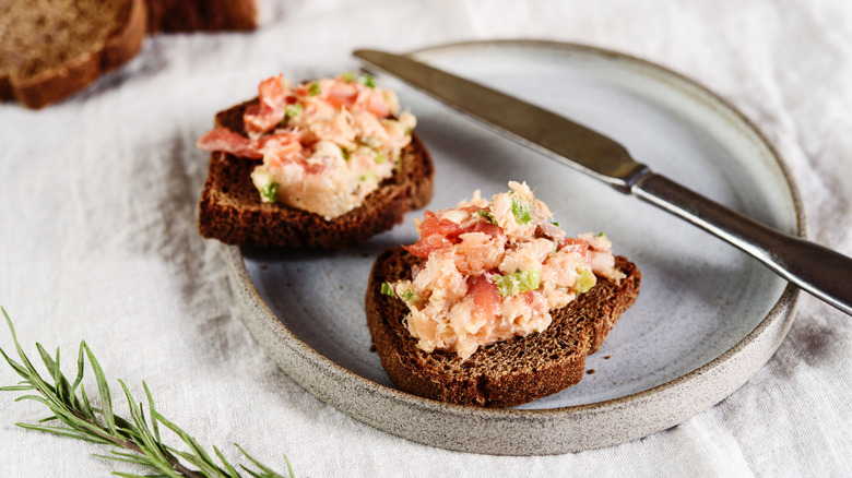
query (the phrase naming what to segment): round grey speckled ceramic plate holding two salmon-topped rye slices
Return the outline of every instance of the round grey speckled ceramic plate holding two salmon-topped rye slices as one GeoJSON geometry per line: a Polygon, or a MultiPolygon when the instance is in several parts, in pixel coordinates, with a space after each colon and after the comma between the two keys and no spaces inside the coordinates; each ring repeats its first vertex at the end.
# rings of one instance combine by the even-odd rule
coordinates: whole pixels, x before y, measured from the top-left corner
{"type": "MultiPolygon", "coordinates": [[[[592,127],[653,170],[776,228],[804,232],[795,188],[772,147],[730,105],[672,71],[548,41],[454,44],[413,55],[592,127]]],[[[578,385],[516,409],[478,409],[394,390],[370,351],[364,292],[372,259],[413,242],[411,219],[422,212],[342,252],[227,248],[248,328],[308,392],[365,423],[434,446],[558,454],[688,420],[743,385],[781,344],[797,292],[757,262],[391,77],[379,81],[418,117],[437,170],[430,208],[524,180],[569,234],[606,231],[615,251],[639,265],[642,289],[589,357],[578,385]]]]}

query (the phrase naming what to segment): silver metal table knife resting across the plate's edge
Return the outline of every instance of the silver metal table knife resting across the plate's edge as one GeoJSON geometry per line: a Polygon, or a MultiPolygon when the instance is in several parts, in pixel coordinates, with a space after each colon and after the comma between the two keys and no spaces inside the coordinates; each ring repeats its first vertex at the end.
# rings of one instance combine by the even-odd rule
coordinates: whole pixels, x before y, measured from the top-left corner
{"type": "Polygon", "coordinates": [[[614,140],[552,111],[407,56],[377,50],[354,55],[367,70],[374,67],[397,76],[507,138],[706,229],[852,315],[852,259],[695,193],[637,163],[614,140]]]}

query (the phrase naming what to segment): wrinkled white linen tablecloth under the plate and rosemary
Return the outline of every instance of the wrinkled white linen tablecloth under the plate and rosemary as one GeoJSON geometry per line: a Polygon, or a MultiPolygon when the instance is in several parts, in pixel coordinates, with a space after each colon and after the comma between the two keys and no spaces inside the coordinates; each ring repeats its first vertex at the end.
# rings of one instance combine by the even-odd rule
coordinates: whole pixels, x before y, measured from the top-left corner
{"type": "MultiPolygon", "coordinates": [[[[94,88],[31,111],[0,104],[0,304],[24,349],[80,340],[138,399],[238,458],[297,476],[841,476],[852,470],[852,318],[803,297],[776,356],[687,422],[604,450],[495,457],[416,444],[319,402],[238,316],[222,248],[196,229],[194,141],[259,80],[333,74],[351,51],[543,38],[641,57],[739,108],[794,177],[809,237],[852,254],[852,7],[844,0],[261,2],[253,33],[161,35],[94,88]]],[[[439,187],[439,184],[438,184],[439,187]]],[[[0,347],[13,352],[5,326],[0,347]]],[[[17,375],[0,362],[0,385],[17,375]]],[[[47,414],[0,394],[0,476],[140,473],[108,449],[27,431],[47,414]]],[[[245,462],[242,462],[245,463],[245,462]]]]}

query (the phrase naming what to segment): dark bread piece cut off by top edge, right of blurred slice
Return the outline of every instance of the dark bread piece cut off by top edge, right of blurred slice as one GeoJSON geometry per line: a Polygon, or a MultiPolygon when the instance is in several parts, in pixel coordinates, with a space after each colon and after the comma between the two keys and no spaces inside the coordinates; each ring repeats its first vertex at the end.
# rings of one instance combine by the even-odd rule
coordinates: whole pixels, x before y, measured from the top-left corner
{"type": "Polygon", "coordinates": [[[258,26],[255,0],[146,0],[149,32],[249,31],[258,26]]]}

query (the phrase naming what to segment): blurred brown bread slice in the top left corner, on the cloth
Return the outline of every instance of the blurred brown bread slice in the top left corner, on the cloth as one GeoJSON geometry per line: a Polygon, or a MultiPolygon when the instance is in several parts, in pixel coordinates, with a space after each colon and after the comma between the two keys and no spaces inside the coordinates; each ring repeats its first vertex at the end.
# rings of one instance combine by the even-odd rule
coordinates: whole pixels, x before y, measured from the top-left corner
{"type": "Polygon", "coordinates": [[[145,36],[143,0],[13,0],[0,5],[0,99],[42,108],[132,59],[145,36]]]}

